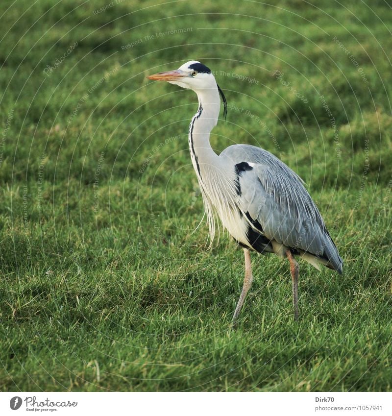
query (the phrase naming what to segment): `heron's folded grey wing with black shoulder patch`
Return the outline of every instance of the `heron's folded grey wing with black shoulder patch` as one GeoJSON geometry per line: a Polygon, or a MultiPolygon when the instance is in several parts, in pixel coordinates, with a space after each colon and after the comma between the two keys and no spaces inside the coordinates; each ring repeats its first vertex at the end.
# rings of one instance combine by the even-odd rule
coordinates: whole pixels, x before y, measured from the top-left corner
{"type": "Polygon", "coordinates": [[[342,272],[343,260],[294,171],[270,152],[249,145],[230,146],[221,157],[236,165],[239,208],[255,231],[293,252],[324,259],[329,267],[342,272]]]}

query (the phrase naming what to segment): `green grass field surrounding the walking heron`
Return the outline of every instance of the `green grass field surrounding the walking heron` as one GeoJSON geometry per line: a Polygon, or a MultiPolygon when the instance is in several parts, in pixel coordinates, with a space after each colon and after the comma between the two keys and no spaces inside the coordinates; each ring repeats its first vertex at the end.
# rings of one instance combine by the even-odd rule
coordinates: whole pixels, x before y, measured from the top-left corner
{"type": "Polygon", "coordinates": [[[5,1],[2,391],[392,390],[391,9],[208,3],[5,1]],[[287,262],[253,255],[229,331],[243,254],[195,231],[196,96],[146,79],[190,59],[231,106],[213,147],[297,171],[344,259],[343,276],[301,262],[297,322],[287,262]]]}

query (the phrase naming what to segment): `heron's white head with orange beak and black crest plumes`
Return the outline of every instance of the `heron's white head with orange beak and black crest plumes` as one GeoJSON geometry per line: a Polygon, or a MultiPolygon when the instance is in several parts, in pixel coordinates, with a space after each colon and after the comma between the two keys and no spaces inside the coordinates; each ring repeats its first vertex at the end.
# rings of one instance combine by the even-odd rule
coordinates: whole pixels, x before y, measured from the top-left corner
{"type": "Polygon", "coordinates": [[[226,117],[226,98],[217,84],[212,71],[198,61],[189,61],[181,65],[177,70],[154,73],[153,75],[148,75],[147,78],[153,81],[167,81],[170,84],[193,90],[196,94],[205,90],[218,90],[224,106],[223,116],[226,117]]]}

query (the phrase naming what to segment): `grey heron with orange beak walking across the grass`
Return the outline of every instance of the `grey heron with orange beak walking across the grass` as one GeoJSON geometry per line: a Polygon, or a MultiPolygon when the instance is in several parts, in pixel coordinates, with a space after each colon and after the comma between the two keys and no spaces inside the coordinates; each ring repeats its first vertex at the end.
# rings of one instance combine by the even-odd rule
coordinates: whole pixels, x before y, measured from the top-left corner
{"type": "Polygon", "coordinates": [[[155,73],[148,79],[167,81],[195,91],[198,109],[189,125],[189,150],[203,197],[211,241],[215,219],[243,247],[245,278],[233,325],[252,284],[250,250],[275,253],[290,262],[294,319],[298,319],[300,256],[316,269],[324,265],[343,272],[343,260],[332,241],[319,209],[302,179],[272,153],[250,145],[232,145],[221,154],[210,145],[210,132],[217,125],[221,100],[227,102],[211,70],[189,61],[177,70],[155,73]]]}

